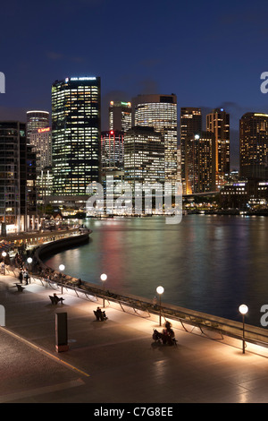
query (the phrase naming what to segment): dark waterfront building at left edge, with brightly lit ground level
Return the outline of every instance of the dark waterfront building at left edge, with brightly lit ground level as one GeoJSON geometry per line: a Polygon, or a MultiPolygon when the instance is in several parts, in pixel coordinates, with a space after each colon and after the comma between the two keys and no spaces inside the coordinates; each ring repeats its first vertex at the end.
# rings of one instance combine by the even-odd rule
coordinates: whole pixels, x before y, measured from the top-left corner
{"type": "Polygon", "coordinates": [[[35,154],[26,139],[26,125],[0,122],[0,219],[2,235],[35,228],[35,154]],[[31,219],[31,222],[30,220],[31,219]]]}

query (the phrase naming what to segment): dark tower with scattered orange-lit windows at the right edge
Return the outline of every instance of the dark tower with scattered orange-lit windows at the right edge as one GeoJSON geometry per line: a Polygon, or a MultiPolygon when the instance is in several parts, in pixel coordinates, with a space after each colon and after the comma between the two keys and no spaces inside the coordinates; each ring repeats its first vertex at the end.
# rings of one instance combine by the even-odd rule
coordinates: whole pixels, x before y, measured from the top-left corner
{"type": "Polygon", "coordinates": [[[268,178],[268,115],[246,113],[239,121],[240,176],[268,178]]]}

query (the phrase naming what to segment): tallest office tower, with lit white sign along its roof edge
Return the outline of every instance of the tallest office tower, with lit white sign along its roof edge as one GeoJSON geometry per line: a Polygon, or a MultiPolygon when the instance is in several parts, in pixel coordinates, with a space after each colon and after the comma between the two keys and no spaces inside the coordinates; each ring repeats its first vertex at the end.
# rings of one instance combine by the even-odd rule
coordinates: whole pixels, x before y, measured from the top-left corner
{"type": "Polygon", "coordinates": [[[71,77],[52,86],[54,194],[86,194],[99,181],[100,78],[71,77]]]}

